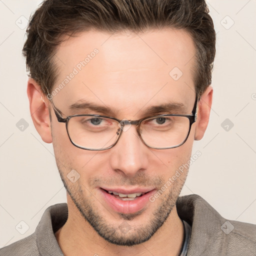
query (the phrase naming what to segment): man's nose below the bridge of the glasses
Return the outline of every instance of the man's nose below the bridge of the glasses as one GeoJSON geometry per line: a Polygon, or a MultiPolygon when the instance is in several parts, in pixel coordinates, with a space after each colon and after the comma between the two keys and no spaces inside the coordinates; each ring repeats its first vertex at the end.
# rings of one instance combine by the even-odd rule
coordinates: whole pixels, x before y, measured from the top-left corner
{"type": "Polygon", "coordinates": [[[134,176],[147,168],[149,148],[140,140],[135,125],[127,130],[124,125],[117,143],[109,150],[110,166],[117,172],[134,176]]]}

